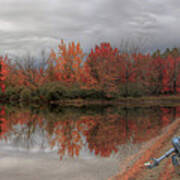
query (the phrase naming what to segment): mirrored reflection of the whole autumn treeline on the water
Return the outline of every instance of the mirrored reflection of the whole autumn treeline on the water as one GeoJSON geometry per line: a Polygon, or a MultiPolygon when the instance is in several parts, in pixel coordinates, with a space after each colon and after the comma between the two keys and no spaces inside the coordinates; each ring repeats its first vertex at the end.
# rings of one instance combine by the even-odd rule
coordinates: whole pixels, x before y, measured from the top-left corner
{"type": "Polygon", "coordinates": [[[109,157],[129,140],[137,144],[157,136],[180,117],[180,107],[62,108],[58,112],[0,108],[1,142],[21,149],[57,150],[60,159],[79,156],[83,147],[109,157]]]}

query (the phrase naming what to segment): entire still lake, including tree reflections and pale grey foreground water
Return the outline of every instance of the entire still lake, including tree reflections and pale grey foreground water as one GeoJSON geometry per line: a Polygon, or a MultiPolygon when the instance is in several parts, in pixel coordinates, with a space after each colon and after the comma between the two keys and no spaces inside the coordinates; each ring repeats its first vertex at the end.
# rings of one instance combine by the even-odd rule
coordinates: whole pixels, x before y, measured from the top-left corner
{"type": "Polygon", "coordinates": [[[176,107],[0,106],[0,178],[108,179],[180,117],[176,107]]]}

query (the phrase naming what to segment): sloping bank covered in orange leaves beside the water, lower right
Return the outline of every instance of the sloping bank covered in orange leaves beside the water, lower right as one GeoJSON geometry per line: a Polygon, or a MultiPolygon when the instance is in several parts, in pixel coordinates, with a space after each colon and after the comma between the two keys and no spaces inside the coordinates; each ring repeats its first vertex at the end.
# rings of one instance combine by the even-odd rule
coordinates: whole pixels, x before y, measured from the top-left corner
{"type": "Polygon", "coordinates": [[[174,173],[170,157],[163,160],[158,167],[155,167],[152,170],[144,167],[144,163],[149,161],[151,157],[160,157],[162,154],[167,152],[167,150],[172,148],[171,138],[179,136],[179,126],[180,119],[176,119],[175,122],[162,131],[161,135],[152,139],[137,154],[130,156],[126,160],[126,164],[124,164],[123,168],[121,168],[121,171],[110,177],[108,180],[128,180],[131,178],[135,178],[137,180],[161,179],[162,174],[165,174],[164,172],[166,171],[167,175],[173,175],[174,180],[179,179],[178,175],[174,173]]]}

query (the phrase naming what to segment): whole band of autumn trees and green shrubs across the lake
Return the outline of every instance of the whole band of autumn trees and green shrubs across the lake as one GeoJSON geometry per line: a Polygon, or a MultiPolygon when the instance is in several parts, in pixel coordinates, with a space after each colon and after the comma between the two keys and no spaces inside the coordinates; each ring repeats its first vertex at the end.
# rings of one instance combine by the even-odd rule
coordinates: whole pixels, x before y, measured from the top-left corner
{"type": "Polygon", "coordinates": [[[180,51],[125,53],[110,43],[85,54],[80,43],[66,45],[37,62],[1,57],[1,99],[50,102],[61,99],[116,99],[180,93],[180,51]],[[6,89],[6,90],[5,90],[6,89]]]}

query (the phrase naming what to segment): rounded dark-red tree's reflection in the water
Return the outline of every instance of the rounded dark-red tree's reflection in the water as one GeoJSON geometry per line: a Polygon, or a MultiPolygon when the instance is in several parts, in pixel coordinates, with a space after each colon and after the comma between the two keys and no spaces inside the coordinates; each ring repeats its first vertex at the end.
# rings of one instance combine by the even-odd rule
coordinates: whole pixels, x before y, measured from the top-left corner
{"type": "MultiPolygon", "coordinates": [[[[92,117],[91,117],[92,119],[92,117]]],[[[93,117],[94,126],[85,133],[88,147],[103,157],[117,152],[117,146],[127,140],[126,122],[118,114],[93,117]]]]}

